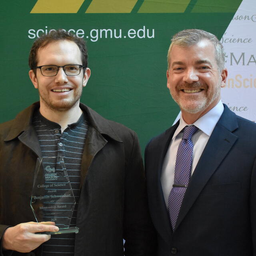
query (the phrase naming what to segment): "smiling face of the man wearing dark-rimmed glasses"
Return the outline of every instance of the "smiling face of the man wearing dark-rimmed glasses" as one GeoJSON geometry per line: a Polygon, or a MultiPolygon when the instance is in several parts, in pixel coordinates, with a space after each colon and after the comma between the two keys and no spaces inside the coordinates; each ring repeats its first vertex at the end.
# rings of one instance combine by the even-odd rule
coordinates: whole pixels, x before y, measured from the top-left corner
{"type": "MultiPolygon", "coordinates": [[[[50,42],[37,52],[37,66],[68,64],[82,65],[81,52],[76,43],[68,40],[50,42]]],[[[67,76],[63,68],[59,68],[56,76],[43,76],[40,69],[29,71],[29,76],[40,95],[40,110],[67,111],[79,108],[82,88],[90,77],[90,69],[83,70],[77,76],[67,76]]]]}

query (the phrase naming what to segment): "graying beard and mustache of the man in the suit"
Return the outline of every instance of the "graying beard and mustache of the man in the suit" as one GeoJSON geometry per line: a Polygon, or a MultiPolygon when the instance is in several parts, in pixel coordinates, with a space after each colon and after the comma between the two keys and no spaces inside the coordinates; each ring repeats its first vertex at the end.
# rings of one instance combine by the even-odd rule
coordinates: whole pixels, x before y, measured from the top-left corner
{"type": "Polygon", "coordinates": [[[221,80],[216,86],[209,90],[209,86],[205,83],[194,82],[192,84],[188,84],[184,82],[182,84],[178,84],[176,88],[171,89],[170,94],[174,101],[179,105],[180,109],[188,113],[195,114],[204,111],[220,96],[220,83],[221,80]],[[204,95],[193,95],[194,93],[187,93],[184,97],[180,96],[179,93],[183,94],[180,90],[184,88],[189,90],[204,89],[203,92],[200,92],[200,94],[204,93],[204,95]],[[177,91],[179,93],[177,93],[177,91]]]}

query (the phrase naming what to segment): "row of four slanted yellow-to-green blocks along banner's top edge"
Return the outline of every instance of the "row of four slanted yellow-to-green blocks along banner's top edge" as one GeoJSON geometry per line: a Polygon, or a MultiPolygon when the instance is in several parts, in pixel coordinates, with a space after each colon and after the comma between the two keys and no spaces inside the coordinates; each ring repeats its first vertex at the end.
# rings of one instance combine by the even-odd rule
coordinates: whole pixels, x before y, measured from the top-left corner
{"type": "Polygon", "coordinates": [[[241,0],[37,0],[30,13],[77,13],[80,8],[79,13],[86,14],[228,13],[236,12],[240,3],[241,0]]]}

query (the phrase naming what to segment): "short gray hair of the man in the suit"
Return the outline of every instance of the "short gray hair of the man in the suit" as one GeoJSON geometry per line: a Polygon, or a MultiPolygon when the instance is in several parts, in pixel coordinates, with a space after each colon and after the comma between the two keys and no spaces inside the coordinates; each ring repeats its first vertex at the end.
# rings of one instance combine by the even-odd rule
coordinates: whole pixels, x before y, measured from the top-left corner
{"type": "Polygon", "coordinates": [[[206,32],[200,29],[182,30],[172,37],[172,43],[170,44],[168,54],[167,54],[168,70],[170,65],[170,53],[172,50],[172,46],[178,45],[181,47],[190,47],[204,39],[209,40],[214,45],[215,58],[218,65],[218,70],[219,72],[221,72],[224,69],[224,63],[225,63],[223,46],[214,34],[211,34],[209,32],[206,32]]]}

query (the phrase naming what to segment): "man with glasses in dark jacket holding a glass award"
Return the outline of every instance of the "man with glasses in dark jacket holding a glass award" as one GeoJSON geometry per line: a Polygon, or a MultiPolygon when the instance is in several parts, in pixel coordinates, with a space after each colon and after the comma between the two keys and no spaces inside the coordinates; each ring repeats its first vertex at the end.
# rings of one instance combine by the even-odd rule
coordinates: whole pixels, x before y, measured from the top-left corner
{"type": "Polygon", "coordinates": [[[1,255],[154,255],[137,136],[80,103],[90,77],[84,40],[52,31],[34,42],[29,65],[40,102],[0,126],[1,255]],[[77,234],[36,234],[58,231],[33,222],[30,208],[42,156],[64,159],[77,234]]]}

